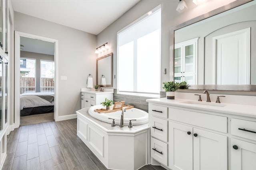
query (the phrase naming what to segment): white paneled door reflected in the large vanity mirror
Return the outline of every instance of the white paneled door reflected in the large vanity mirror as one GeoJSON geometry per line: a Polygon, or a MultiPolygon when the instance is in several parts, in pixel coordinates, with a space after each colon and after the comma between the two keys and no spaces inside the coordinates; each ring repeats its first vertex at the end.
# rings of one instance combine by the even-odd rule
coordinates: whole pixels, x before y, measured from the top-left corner
{"type": "Polygon", "coordinates": [[[250,28],[213,39],[216,84],[250,84],[250,28]]]}

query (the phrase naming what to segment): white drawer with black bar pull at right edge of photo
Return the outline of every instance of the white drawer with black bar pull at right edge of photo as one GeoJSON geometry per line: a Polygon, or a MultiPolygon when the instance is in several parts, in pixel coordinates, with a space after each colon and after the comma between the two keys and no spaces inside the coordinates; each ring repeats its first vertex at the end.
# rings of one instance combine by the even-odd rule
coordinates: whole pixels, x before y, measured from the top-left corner
{"type": "Polygon", "coordinates": [[[232,118],[231,134],[256,141],[256,122],[232,118]]]}

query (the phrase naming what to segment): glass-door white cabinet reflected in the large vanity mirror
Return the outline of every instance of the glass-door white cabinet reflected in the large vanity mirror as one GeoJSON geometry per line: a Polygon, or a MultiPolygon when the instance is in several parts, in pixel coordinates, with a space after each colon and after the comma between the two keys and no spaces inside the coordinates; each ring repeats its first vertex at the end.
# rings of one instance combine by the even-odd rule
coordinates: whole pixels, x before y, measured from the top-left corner
{"type": "Polygon", "coordinates": [[[198,38],[174,45],[174,81],[196,84],[196,60],[198,38]]]}

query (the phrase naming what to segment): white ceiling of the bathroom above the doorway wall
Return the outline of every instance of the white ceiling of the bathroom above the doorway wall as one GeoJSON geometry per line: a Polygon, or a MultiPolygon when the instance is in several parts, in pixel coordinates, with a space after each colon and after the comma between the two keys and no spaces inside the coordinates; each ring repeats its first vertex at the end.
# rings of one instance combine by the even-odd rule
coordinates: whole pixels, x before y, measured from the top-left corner
{"type": "Polygon", "coordinates": [[[98,35],[140,0],[12,0],[14,11],[98,35]]]}

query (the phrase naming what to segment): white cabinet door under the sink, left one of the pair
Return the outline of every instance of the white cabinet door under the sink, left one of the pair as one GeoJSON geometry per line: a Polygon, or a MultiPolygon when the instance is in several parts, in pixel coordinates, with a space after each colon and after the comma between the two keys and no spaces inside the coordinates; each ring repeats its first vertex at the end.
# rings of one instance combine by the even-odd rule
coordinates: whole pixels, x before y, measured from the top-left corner
{"type": "Polygon", "coordinates": [[[169,121],[169,165],[172,170],[193,170],[193,128],[169,121]]]}

